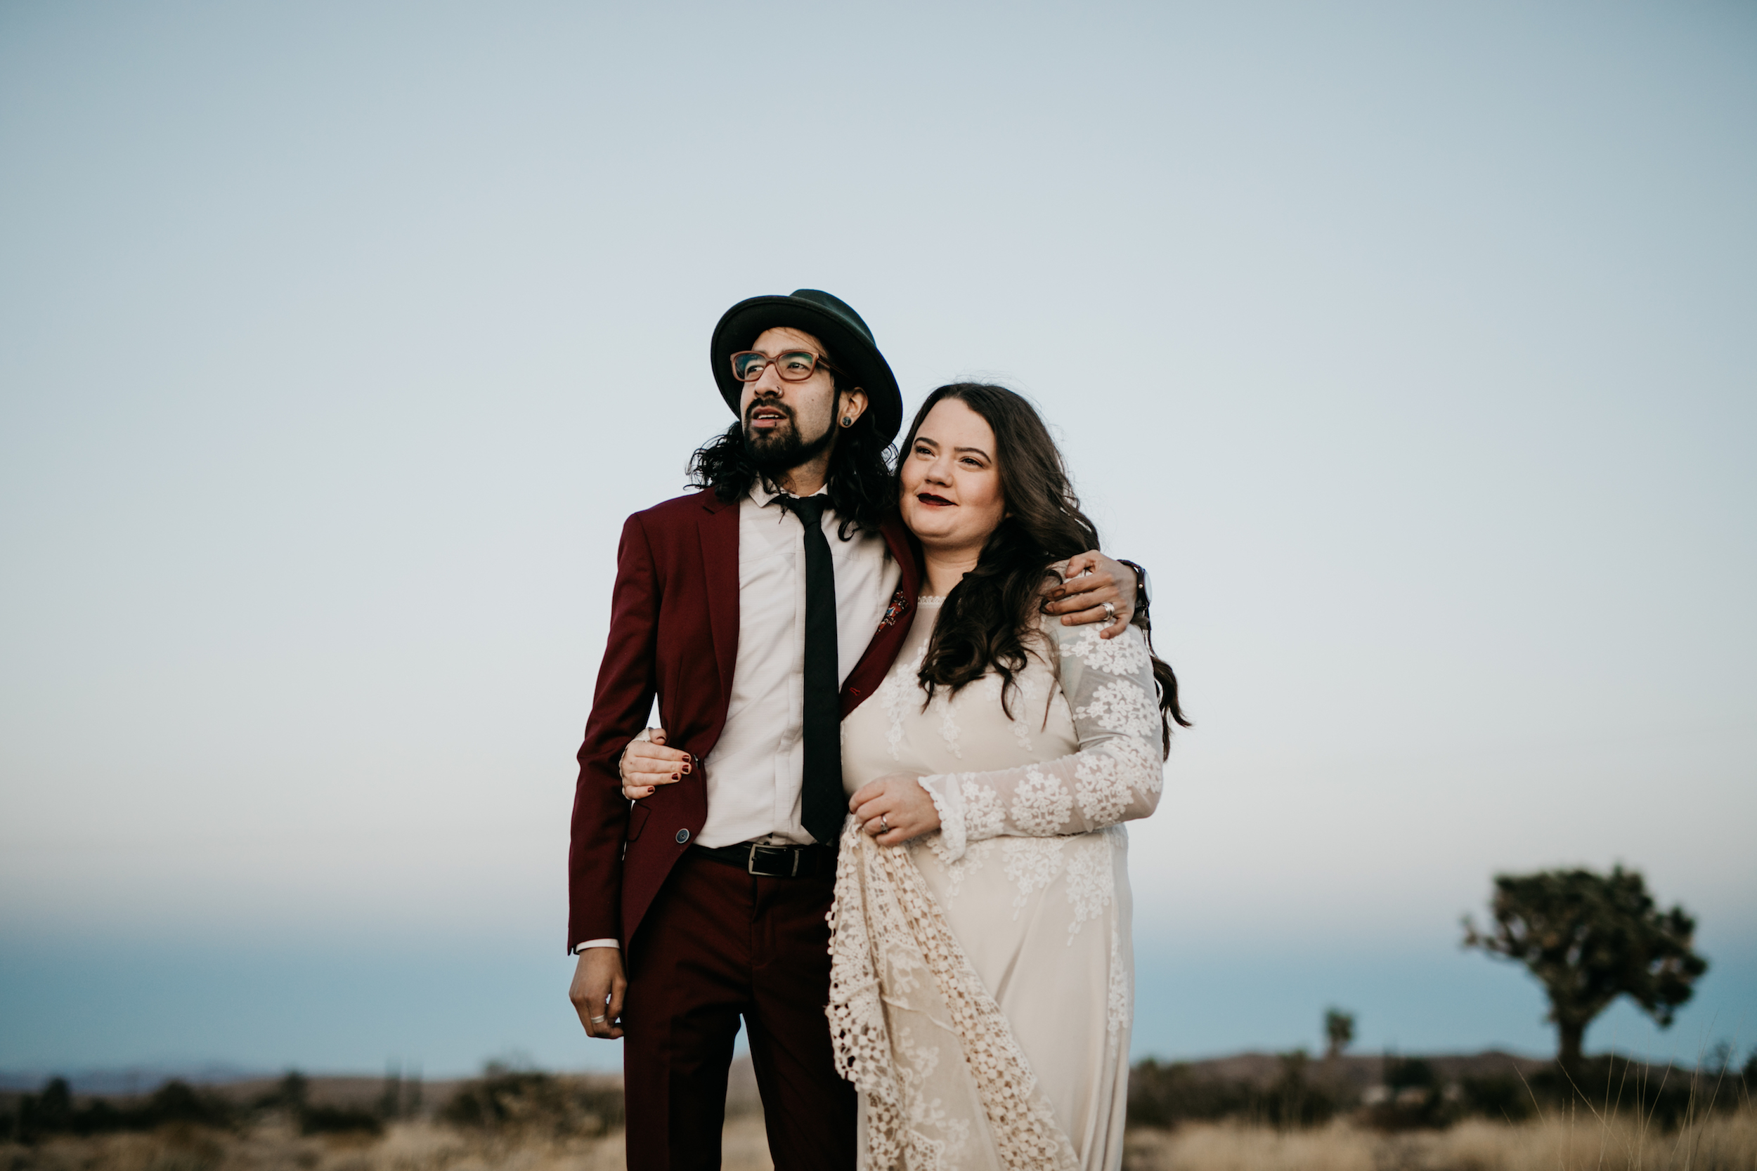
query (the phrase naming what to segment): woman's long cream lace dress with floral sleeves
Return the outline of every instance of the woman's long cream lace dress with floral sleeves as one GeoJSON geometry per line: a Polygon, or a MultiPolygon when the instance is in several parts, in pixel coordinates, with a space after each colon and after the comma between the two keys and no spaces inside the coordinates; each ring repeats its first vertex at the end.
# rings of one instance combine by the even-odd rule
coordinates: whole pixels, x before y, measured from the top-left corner
{"type": "Polygon", "coordinates": [[[1001,711],[998,676],[917,683],[940,599],[921,599],[873,697],[842,725],[852,794],[922,776],[940,832],[882,848],[854,820],[831,916],[831,1034],[859,1088],[861,1166],[1123,1162],[1133,1004],[1128,836],[1163,758],[1133,627],[1044,621],[1001,711]],[[1051,665],[1054,660],[1054,665],[1051,665]]]}

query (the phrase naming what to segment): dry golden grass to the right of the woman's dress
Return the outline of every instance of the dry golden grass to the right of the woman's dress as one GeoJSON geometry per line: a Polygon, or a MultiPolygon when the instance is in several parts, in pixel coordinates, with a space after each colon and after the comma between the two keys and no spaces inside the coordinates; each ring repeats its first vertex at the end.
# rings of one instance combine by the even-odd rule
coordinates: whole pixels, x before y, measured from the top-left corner
{"type": "Polygon", "coordinates": [[[1757,1171],[1757,1113],[1715,1115],[1676,1132],[1611,1118],[1377,1134],[1335,1124],[1277,1134],[1232,1125],[1135,1131],[1128,1171],[1757,1171]]]}

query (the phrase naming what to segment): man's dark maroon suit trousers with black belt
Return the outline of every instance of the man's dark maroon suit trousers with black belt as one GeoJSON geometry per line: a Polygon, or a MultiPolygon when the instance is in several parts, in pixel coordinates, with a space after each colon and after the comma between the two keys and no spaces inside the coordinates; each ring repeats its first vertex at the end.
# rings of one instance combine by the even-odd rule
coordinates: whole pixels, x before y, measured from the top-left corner
{"type": "Polygon", "coordinates": [[[629,1171],[717,1171],[743,1017],[775,1171],[852,1171],[854,1087],[829,1052],[835,878],[757,878],[694,850],[629,943],[629,1171]]]}

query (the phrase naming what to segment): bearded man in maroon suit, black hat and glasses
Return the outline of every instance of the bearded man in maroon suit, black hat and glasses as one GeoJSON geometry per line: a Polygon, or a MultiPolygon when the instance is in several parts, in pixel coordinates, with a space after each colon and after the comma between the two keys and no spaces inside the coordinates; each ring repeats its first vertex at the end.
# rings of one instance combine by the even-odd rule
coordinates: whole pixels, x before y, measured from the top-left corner
{"type": "MultiPolygon", "coordinates": [[[[838,723],[921,588],[884,462],[903,400],[866,323],[817,290],[733,305],[710,351],[740,421],[696,453],[703,490],[631,516],[617,551],[573,809],[569,997],[590,1036],[625,1038],[631,1171],[720,1166],[740,1018],[777,1171],[852,1169],[824,916],[838,723]],[[647,751],[678,783],[631,806],[617,765],[655,695],[666,748],[647,751]]],[[[1100,560],[1056,609],[1128,621],[1132,574],[1100,560]]]]}

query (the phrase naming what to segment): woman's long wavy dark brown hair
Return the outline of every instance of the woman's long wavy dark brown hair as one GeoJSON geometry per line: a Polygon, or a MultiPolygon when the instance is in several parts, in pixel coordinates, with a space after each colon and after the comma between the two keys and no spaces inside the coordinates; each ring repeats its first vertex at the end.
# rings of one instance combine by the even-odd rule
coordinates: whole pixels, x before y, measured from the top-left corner
{"type": "MultiPolygon", "coordinates": [[[[1001,708],[1010,718],[1007,693],[1014,674],[1024,671],[1024,639],[1038,629],[1044,586],[1058,581],[1049,567],[1096,550],[1098,527],[1081,511],[1061,449],[1042,416],[1005,386],[952,383],[935,390],[908,425],[901,460],[908,460],[922,420],[945,399],[963,402],[994,432],[994,467],[1000,471],[1007,518],[989,534],[977,567],[945,595],[921,664],[921,685],[931,700],[936,686],[958,693],[966,683],[994,671],[1001,679],[1001,708]]],[[[1189,727],[1189,722],[1177,706],[1177,676],[1158,655],[1153,655],[1153,679],[1160,693],[1163,743],[1170,751],[1172,723],[1189,727]]]]}

